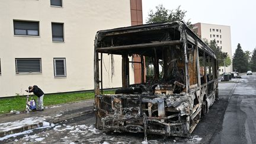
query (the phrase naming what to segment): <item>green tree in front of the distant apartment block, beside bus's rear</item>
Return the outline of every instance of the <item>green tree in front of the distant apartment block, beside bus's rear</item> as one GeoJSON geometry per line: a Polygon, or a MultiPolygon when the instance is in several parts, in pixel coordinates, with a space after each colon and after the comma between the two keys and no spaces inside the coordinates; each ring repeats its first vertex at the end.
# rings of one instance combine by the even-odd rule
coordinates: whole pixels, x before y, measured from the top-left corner
{"type": "Polygon", "coordinates": [[[213,52],[215,52],[219,66],[224,66],[224,61],[226,62],[226,66],[231,65],[231,59],[228,56],[228,53],[222,52],[222,49],[217,46],[216,40],[210,40],[210,43],[207,39],[203,39],[203,41],[213,50],[213,52]]]}

